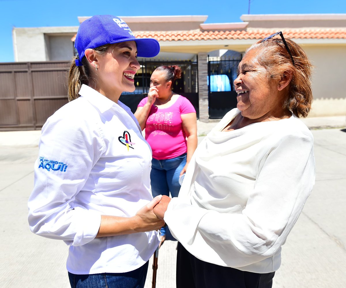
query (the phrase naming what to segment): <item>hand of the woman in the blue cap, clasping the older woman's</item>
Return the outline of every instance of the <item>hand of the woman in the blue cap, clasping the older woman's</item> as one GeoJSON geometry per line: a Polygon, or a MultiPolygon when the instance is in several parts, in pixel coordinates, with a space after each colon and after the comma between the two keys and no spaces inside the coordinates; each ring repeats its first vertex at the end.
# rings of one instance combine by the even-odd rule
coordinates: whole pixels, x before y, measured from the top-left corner
{"type": "Polygon", "coordinates": [[[161,200],[162,195],[156,196],[150,203],[140,208],[135,217],[137,218],[138,228],[137,232],[147,232],[160,229],[165,222],[162,218],[158,218],[153,208],[161,200]]]}

